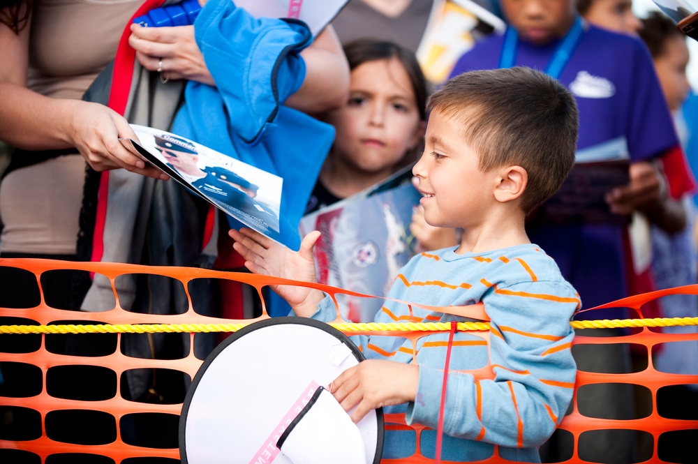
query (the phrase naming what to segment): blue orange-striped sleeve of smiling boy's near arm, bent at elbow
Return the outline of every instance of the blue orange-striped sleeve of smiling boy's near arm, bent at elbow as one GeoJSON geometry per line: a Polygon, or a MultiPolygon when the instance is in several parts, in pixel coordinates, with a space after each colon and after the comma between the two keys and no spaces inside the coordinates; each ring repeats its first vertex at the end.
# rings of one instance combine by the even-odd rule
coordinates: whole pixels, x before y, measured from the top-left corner
{"type": "MultiPolygon", "coordinates": [[[[490,362],[494,378],[466,372],[448,375],[443,430],[447,435],[500,444],[537,447],[562,420],[577,373],[572,359],[570,318],[579,297],[566,283],[494,286],[484,299],[491,317],[490,362]]],[[[452,359],[467,356],[454,347],[452,359]]],[[[443,357],[420,361],[417,397],[408,424],[438,427],[443,357]]]]}

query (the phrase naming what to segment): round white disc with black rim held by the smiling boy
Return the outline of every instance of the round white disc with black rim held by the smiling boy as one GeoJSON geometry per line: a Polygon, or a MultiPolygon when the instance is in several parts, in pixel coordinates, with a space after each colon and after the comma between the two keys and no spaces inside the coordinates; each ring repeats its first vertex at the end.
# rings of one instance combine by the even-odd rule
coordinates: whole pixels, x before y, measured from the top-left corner
{"type": "MultiPolygon", "coordinates": [[[[329,386],[364,359],[347,336],[305,317],[255,322],[226,338],[204,361],[179,419],[184,464],[291,464],[274,444],[307,392],[329,386]],[[314,386],[314,387],[313,387],[314,386]]],[[[383,449],[383,411],[357,424],[366,463],[383,449]]]]}

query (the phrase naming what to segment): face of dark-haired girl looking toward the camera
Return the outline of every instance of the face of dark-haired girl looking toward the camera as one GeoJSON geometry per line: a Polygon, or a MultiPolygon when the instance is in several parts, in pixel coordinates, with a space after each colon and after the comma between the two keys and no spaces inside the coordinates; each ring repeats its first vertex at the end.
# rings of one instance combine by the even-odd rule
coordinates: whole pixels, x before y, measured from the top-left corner
{"type": "Polygon", "coordinates": [[[336,128],[332,156],[371,174],[391,174],[423,132],[410,78],[394,58],[354,68],[349,100],[330,112],[327,122],[336,128]]]}

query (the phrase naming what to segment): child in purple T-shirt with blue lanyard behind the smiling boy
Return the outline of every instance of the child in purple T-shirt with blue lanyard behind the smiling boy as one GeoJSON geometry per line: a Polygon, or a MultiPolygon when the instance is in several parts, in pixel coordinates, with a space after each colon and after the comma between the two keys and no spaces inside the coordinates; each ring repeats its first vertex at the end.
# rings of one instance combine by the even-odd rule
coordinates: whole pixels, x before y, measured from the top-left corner
{"type": "MultiPolygon", "coordinates": [[[[617,156],[630,161],[630,184],[607,194],[611,211],[626,215],[637,212],[637,218],[644,217],[669,233],[685,227],[685,210],[677,199],[694,184],[683,168],[674,123],[641,40],[581,20],[576,0],[500,0],[500,5],[510,27],[505,34],[492,34],[464,54],[452,75],[509,66],[546,70],[577,99],[579,154],[584,153],[588,160],[617,156]],[[671,179],[668,188],[664,188],[667,185],[660,170],[671,179]]],[[[634,223],[634,227],[641,225],[639,220],[634,223]]],[[[554,258],[587,308],[654,290],[648,286],[651,276],[641,272],[648,264],[646,250],[650,244],[631,248],[628,227],[621,221],[529,221],[526,232],[554,258]]],[[[637,313],[594,310],[580,314],[577,320],[624,317],[637,317],[637,313]]],[[[588,335],[614,336],[618,330],[594,329],[588,335]]],[[[582,371],[632,372],[627,344],[579,345],[574,355],[582,371]]],[[[631,384],[600,383],[582,389],[577,394],[577,406],[590,417],[640,417],[634,409],[631,384]]],[[[646,459],[637,456],[639,432],[632,429],[628,424],[623,430],[586,434],[581,440],[580,456],[609,464],[646,459]]],[[[563,441],[551,444],[549,449],[549,462],[566,461],[572,456],[572,449],[563,441]]],[[[542,456],[544,453],[542,450],[542,456]]]]}

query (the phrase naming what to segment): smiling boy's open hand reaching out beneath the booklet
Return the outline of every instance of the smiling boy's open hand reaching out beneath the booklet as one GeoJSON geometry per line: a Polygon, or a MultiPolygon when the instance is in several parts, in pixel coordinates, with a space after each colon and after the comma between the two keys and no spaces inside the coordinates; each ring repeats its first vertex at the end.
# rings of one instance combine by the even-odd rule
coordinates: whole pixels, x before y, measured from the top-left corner
{"type": "MultiPolygon", "coordinates": [[[[317,282],[315,260],[313,260],[313,246],[320,238],[320,232],[317,230],[304,237],[297,252],[246,227],[239,231],[231,229],[228,234],[235,240],[232,248],[244,257],[245,267],[254,274],[301,282],[317,282]]],[[[313,315],[318,309],[318,303],[325,297],[320,290],[299,285],[271,285],[271,287],[274,292],[288,301],[297,315],[304,317],[313,315]]]]}

